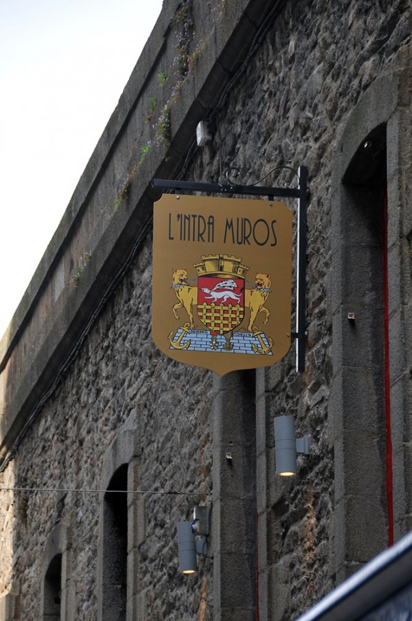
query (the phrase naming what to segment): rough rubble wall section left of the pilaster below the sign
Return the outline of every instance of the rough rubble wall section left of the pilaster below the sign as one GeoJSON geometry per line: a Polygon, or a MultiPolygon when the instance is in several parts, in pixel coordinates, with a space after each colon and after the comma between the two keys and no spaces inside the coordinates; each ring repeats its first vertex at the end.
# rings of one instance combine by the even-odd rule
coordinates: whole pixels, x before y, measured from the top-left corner
{"type": "MultiPolygon", "coordinates": [[[[86,491],[16,496],[21,543],[14,569],[21,577],[21,605],[27,620],[38,619],[39,602],[31,594],[38,591],[41,550],[60,522],[71,528],[73,619],[96,618],[103,495],[87,490],[107,488],[104,455],[125,424],[135,434],[131,488],[153,492],[133,497],[138,503],[137,519],[144,515],[135,580],[144,594],[147,618],[167,618],[170,610],[174,618],[192,618],[194,602],[187,598],[176,565],[175,523],[189,519],[194,503],[205,502],[211,489],[207,406],[211,377],[193,369],[185,372],[183,384],[177,365],[168,364],[153,348],[150,272],[149,238],[30,432],[36,443],[30,442],[30,458],[16,472],[19,486],[86,491]],[[163,567],[161,575],[159,567],[163,567]]],[[[20,464],[20,451],[28,450],[24,443],[15,462],[20,464]]],[[[192,595],[195,602],[196,596],[200,595],[192,595]]]]}

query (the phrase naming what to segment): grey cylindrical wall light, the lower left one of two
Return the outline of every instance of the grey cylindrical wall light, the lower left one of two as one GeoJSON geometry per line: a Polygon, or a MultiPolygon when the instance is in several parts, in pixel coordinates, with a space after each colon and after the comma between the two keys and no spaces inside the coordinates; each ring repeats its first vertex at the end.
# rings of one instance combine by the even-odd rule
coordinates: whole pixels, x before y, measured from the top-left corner
{"type": "Polygon", "coordinates": [[[209,507],[195,507],[191,522],[177,523],[179,569],[182,574],[197,572],[197,554],[207,556],[206,535],[209,534],[209,507]]]}

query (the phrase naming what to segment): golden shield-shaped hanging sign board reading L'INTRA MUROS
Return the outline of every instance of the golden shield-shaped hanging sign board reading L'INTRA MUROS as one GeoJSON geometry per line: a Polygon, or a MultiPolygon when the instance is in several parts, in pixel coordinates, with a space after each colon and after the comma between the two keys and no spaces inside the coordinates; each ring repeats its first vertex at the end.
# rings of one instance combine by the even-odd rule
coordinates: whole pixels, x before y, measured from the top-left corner
{"type": "Polygon", "coordinates": [[[279,201],[163,194],[153,225],[152,337],[220,375],[290,348],[292,212],[279,201]]]}

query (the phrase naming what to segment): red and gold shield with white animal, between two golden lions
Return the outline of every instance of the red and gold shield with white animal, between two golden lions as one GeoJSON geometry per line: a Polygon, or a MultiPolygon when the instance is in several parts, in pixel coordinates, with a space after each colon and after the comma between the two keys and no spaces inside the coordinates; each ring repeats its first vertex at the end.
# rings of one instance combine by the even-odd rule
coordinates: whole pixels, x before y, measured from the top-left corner
{"type": "Polygon", "coordinates": [[[199,276],[197,309],[211,334],[231,332],[244,317],[244,278],[226,274],[199,276]]]}

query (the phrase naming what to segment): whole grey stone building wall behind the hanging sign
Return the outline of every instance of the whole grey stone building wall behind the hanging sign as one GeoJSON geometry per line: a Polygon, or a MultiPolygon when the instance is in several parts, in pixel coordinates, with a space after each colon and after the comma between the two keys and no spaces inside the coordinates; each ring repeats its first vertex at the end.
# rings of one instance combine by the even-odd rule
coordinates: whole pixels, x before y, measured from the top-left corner
{"type": "Polygon", "coordinates": [[[411,19],[407,0],[164,3],[0,343],[0,487],[32,490],[0,490],[0,621],[43,619],[56,554],[62,618],[104,619],[119,468],[124,621],[290,621],[387,545],[391,505],[395,539],[412,527],[411,19]],[[294,347],[222,379],[171,361],[150,337],[152,179],[295,185],[279,165],[310,175],[305,372],[294,347]],[[311,436],[293,479],[281,414],[311,436]],[[182,576],[198,505],[209,552],[182,576]]]}

